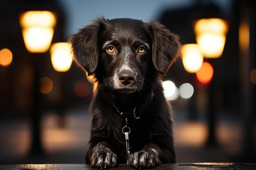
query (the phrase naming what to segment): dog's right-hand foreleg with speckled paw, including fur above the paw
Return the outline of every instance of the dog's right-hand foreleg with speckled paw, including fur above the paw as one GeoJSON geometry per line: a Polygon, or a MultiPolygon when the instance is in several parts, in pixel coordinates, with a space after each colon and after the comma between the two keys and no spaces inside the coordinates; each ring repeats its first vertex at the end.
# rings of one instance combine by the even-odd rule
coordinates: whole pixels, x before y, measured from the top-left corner
{"type": "Polygon", "coordinates": [[[139,152],[130,155],[129,166],[134,168],[154,168],[160,164],[161,149],[156,144],[147,144],[139,152]]]}

